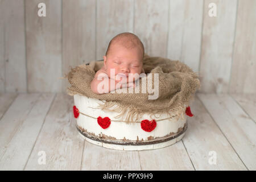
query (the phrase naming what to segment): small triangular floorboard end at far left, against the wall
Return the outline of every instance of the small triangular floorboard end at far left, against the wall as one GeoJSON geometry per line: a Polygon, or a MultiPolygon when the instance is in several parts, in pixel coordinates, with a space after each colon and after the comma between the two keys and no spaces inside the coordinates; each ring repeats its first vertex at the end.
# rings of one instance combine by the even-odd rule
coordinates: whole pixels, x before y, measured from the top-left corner
{"type": "Polygon", "coordinates": [[[0,94],[0,119],[16,98],[15,93],[0,94]]]}

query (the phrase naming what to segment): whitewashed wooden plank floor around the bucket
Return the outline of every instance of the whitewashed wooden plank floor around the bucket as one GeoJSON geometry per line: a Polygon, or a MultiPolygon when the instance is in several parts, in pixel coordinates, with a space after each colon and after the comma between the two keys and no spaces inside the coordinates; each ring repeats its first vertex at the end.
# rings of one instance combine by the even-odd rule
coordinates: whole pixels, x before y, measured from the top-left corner
{"type": "Polygon", "coordinates": [[[66,94],[0,94],[0,170],[256,170],[256,94],[202,94],[176,144],[117,151],[82,139],[66,94]]]}

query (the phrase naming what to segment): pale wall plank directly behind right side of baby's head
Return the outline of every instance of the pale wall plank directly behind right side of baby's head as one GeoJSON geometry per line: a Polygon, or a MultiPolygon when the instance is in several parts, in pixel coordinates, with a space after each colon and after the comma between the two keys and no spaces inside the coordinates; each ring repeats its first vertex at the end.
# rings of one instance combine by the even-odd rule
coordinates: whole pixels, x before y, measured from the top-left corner
{"type": "Polygon", "coordinates": [[[166,57],[168,1],[134,1],[134,33],[150,56],[166,57]]]}

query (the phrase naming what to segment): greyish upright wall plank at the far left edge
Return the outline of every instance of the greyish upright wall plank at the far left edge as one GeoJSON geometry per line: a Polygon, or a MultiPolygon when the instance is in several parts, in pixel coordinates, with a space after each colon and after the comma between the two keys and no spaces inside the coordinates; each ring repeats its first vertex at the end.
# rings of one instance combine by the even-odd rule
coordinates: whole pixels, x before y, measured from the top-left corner
{"type": "Polygon", "coordinates": [[[0,91],[27,92],[24,1],[1,1],[0,91]]]}

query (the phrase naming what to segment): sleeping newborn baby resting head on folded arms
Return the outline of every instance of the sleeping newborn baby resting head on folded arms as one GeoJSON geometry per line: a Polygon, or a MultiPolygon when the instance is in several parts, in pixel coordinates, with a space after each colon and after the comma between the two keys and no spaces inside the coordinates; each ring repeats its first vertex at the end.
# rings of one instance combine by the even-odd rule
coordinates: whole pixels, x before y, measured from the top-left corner
{"type": "Polygon", "coordinates": [[[144,73],[144,46],[138,36],[125,32],[115,36],[109,43],[104,67],[96,72],[90,88],[97,94],[134,87],[139,74],[144,73]]]}

